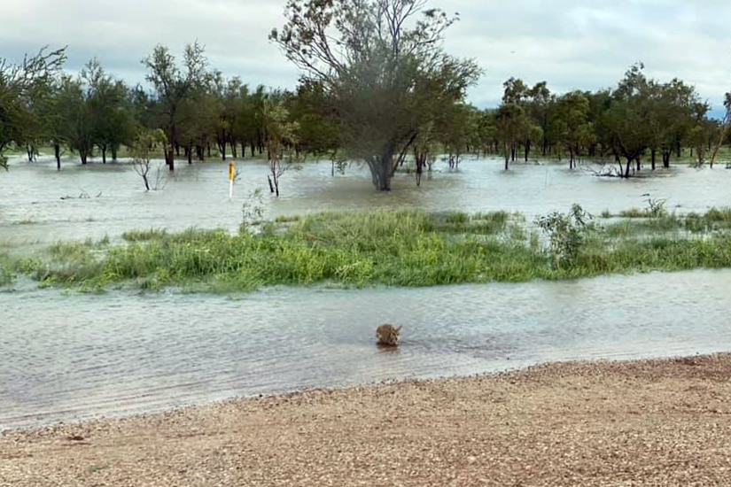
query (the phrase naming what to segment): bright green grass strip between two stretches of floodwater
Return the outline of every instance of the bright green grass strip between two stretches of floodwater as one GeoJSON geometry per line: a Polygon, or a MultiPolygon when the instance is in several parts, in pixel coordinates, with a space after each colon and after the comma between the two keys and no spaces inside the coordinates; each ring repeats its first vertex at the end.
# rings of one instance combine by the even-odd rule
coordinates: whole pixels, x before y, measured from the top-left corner
{"type": "Polygon", "coordinates": [[[268,285],[430,286],[731,267],[728,228],[731,210],[626,220],[597,232],[571,266],[554,268],[519,214],[316,213],[268,222],[256,234],[152,229],[126,233],[127,243],[119,246],[108,245],[108,239],[57,243],[44,259],[0,256],[0,283],[22,272],[45,284],[93,290],[132,282],[147,290],[229,292],[268,285]],[[687,238],[675,231],[680,229],[702,237],[687,238]]]}

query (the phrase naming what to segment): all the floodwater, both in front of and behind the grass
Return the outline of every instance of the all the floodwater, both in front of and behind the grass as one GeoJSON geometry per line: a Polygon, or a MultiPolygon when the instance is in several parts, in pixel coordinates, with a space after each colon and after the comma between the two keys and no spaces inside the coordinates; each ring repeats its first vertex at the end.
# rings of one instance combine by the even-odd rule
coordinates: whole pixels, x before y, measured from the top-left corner
{"type": "MultiPolygon", "coordinates": [[[[181,164],[165,189],[145,192],[126,165],[12,161],[0,174],[0,247],[36,251],[58,239],[116,241],[128,229],[222,227],[266,185],[261,163],[238,163],[229,201],[223,163],[181,164]],[[263,182],[263,184],[261,184],[263,182]],[[89,197],[79,197],[80,195],[89,197]],[[63,197],[63,199],[62,199],[63,197]]],[[[326,209],[413,206],[567,210],[727,206],[731,171],[673,169],[622,182],[564,166],[466,159],[438,165],[416,188],[397,176],[390,194],[328,163],[284,174],[265,194],[268,217],[326,209]]],[[[78,295],[19,282],[0,292],[0,430],[159,411],[208,401],[470,375],[556,359],[629,359],[731,351],[731,270],[606,276],[572,282],[427,289],[270,289],[236,297],[111,291],[78,295]],[[379,349],[378,324],[402,325],[398,350],[379,349]]]]}

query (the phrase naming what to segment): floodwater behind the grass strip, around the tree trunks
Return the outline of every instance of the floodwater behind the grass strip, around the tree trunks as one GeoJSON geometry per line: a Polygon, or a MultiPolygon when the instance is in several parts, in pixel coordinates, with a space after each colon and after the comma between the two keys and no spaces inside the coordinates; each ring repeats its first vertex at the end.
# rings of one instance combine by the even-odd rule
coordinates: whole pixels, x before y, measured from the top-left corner
{"type": "MultiPolygon", "coordinates": [[[[722,167],[722,166],[721,166],[722,167]]],[[[731,205],[731,170],[673,168],[657,177],[618,181],[594,177],[563,165],[515,165],[502,171],[497,159],[466,158],[457,173],[436,165],[432,181],[416,188],[413,177],[397,175],[389,194],[374,191],[366,169],[350,167],[331,176],[328,162],[307,164],[282,176],[282,196],[268,194],[267,167],[239,161],[240,173],[229,201],[226,163],[179,164],[172,176],[162,170],[164,189],[145,192],[131,166],[66,161],[57,172],[51,158],[28,164],[11,161],[0,173],[0,244],[27,245],[68,238],[118,238],[125,230],[144,228],[229,228],[242,219],[242,205],[253,189],[266,189],[261,206],[266,216],[333,209],[419,207],[427,210],[525,213],[528,218],[572,203],[588,211],[616,213],[647,206],[642,195],[665,198],[668,208],[703,212],[731,205]],[[81,197],[83,196],[83,197],[81,197]],[[88,197],[86,197],[88,196],[88,197]],[[63,198],[63,199],[62,199],[63,198]]],[[[151,172],[154,173],[154,170],[151,172]]],[[[649,172],[648,172],[649,173],[649,172]]],[[[152,174],[152,180],[154,180],[152,174]]]]}

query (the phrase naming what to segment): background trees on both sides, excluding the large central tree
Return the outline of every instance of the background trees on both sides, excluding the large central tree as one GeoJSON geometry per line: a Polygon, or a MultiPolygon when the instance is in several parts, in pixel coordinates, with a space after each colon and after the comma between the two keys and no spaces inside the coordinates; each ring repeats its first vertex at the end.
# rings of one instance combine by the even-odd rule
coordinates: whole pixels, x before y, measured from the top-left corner
{"type": "MultiPolygon", "coordinates": [[[[185,46],[182,62],[159,45],[144,58],[146,86],[128,86],[91,59],[75,76],[61,71],[64,49],[41,50],[14,66],[0,65],[0,162],[12,147],[32,160],[41,146],[73,151],[82,164],[99,154],[115,159],[144,130],[161,129],[169,166],[211,157],[245,157],[268,150],[267,103],[284,107],[294,134],[284,143],[298,153],[337,154],[346,116],[333,109],[322,84],[303,81],[294,91],[252,88],[237,76],[208,67],[204,49],[185,46]]],[[[654,168],[691,148],[697,162],[728,143],[728,120],[709,118],[710,106],[693,86],[648,79],[631,66],[613,89],[552,93],[546,81],[503,83],[502,104],[480,110],[454,104],[430,126],[430,143],[456,159],[466,153],[501,153],[506,169],[522,158],[613,158],[628,176],[641,158],[654,168]]],[[[731,109],[731,95],[726,95],[731,109]]],[[[345,148],[347,149],[347,148],[345,148]]],[[[342,153],[342,151],[341,151],[342,153]]]]}

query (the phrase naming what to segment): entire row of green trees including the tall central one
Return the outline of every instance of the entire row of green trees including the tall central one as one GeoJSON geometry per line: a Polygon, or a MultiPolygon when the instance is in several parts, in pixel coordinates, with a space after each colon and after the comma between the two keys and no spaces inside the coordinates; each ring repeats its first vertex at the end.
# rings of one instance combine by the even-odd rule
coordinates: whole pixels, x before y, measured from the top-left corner
{"type": "MultiPolygon", "coordinates": [[[[482,70],[442,48],[458,20],[427,0],[290,0],[284,27],[269,35],[300,69],[296,89],[250,87],[208,65],[191,43],[180,58],[164,45],[141,60],[144,84],[128,86],[97,59],[76,75],[63,73],[66,49],[40,50],[13,65],[0,61],[0,164],[12,145],[35,158],[52,146],[82,164],[123,147],[161,145],[167,166],[215,153],[265,155],[272,175],[283,160],[327,154],[362,160],[374,186],[391,187],[409,158],[416,181],[437,153],[458,166],[467,153],[518,158],[613,159],[629,177],[641,161],[669,166],[682,148],[698,163],[728,143],[731,117],[709,118],[710,105],[678,79],[648,78],[642,63],[611,89],[552,93],[546,81],[510,78],[502,103],[479,109],[466,100],[482,70]],[[416,20],[416,21],[412,21],[416,20]],[[152,137],[156,131],[162,137],[152,137]]],[[[731,95],[726,94],[727,113],[731,95]]],[[[277,189],[278,190],[278,189],[277,189]]]]}

